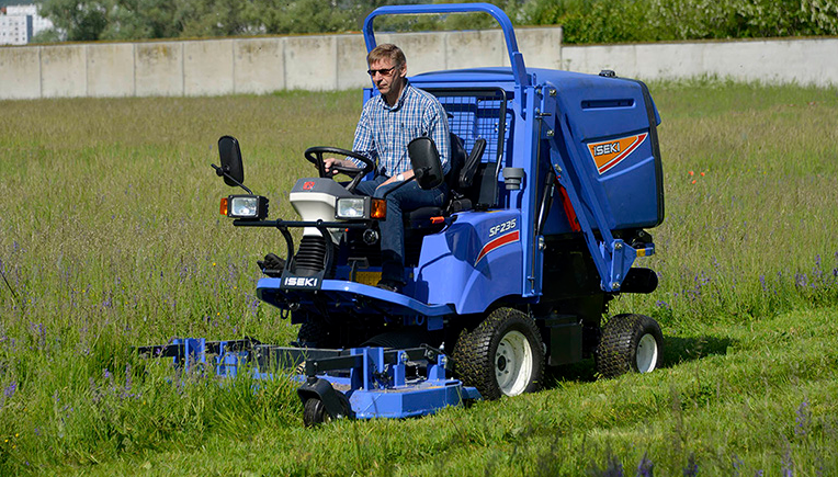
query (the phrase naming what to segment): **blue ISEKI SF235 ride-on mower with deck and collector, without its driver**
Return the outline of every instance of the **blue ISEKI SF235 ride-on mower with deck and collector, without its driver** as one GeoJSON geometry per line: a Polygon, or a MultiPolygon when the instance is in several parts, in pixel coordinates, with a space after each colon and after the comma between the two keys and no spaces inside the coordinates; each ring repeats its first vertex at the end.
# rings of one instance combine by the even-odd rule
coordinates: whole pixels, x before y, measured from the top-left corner
{"type": "MultiPolygon", "coordinates": [[[[304,371],[298,394],[307,424],[329,418],[408,417],[539,389],[545,366],[593,355],[615,376],[661,364],[655,320],[618,315],[602,325],[621,293],[652,293],[657,275],[633,268],[655,252],[645,231],[664,219],[660,120],[647,87],[612,71],[582,75],[524,67],[507,15],[486,3],[383,7],[388,14],[485,12],[501,26],[510,67],[438,71],[410,78],[444,106],[451,169],[442,174],[431,139],[409,157],[421,188],[448,183],[444,207],[404,213],[406,286],[381,277],[377,220],[382,200],[354,193],[375,164],[351,150],[313,147],[305,158],[319,178],[299,179],[290,200],[299,220],[268,219],[268,198],[242,185],[238,141],[218,141],[228,185],[246,194],[222,200],[237,227],[279,230],[285,258],[269,253],[258,297],[298,323],[292,347],[254,340],[174,340],[144,353],[190,366],[214,356],[217,374],[248,363],[269,377],[280,365],[304,371]],[[324,158],[364,166],[327,174],[324,158]],[[292,228],[303,228],[294,243],[292,228]]],[[[545,45],[545,47],[550,47],[545,45]]],[[[364,90],[364,100],[377,92],[364,90]]]]}

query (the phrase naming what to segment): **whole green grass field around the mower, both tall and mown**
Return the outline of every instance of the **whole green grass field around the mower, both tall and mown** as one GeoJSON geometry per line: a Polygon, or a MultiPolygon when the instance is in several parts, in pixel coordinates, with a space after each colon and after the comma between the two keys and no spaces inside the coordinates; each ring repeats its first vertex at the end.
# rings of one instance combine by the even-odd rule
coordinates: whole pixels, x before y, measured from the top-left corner
{"type": "Polygon", "coordinates": [[[360,93],[0,102],[0,475],[838,475],[838,91],[650,90],[660,286],[611,311],[658,319],[666,367],[315,430],[286,379],[222,387],[131,347],[293,339],[254,297],[281,236],[222,217],[208,163],[238,137],[291,217],[303,151],[350,147],[360,93]]]}

